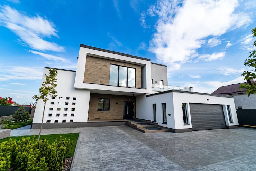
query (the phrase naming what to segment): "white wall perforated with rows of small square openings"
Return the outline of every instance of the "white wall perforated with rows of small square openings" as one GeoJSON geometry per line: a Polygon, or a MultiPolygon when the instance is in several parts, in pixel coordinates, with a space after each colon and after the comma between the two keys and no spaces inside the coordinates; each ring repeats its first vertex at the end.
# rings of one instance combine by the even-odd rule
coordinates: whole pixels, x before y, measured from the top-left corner
{"type": "MultiPolygon", "coordinates": [[[[76,72],[72,71],[63,71],[57,70],[57,95],[55,99],[49,98],[46,103],[45,107],[45,114],[44,114],[44,123],[46,120],[51,120],[51,123],[54,120],[58,120],[58,122],[62,122],[62,120],[66,120],[69,122],[70,119],[73,119],[73,122],[87,122],[88,117],[88,108],[89,108],[89,100],[90,100],[90,90],[81,90],[74,88],[74,81],[75,81],[75,74],[76,72]],[[59,99],[59,97],[63,97],[59,99]],[[70,97],[69,100],[66,100],[66,97],[70,97]],[[76,97],[76,100],[73,100],[73,97],[76,97]],[[54,104],[51,104],[54,102],[54,104]],[[62,102],[61,105],[58,105],[58,102],[62,102]],[[65,102],[68,102],[68,105],[65,105],[65,102]],[[72,103],[75,105],[72,105],[72,103]],[[53,108],[52,111],[49,108],[53,108]],[[57,108],[61,108],[60,111],[57,111],[57,108]],[[64,108],[68,108],[67,111],[64,111],[64,108]],[[75,108],[75,111],[71,111],[72,108],[75,108]],[[52,113],[52,116],[49,117],[48,113],[52,113]],[[59,113],[60,116],[56,117],[56,114],[59,113]],[[67,114],[66,117],[63,114],[67,114]],[[74,117],[71,117],[71,113],[74,114],[74,117]]],[[[42,78],[42,82],[45,80],[44,75],[48,75],[49,69],[44,69],[44,74],[42,78]]],[[[33,123],[41,123],[42,122],[42,115],[43,115],[44,103],[43,101],[38,101],[36,105],[35,115],[33,118],[33,123]]]]}

